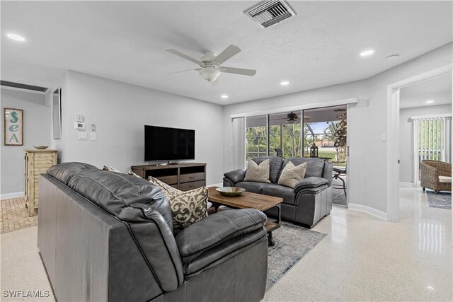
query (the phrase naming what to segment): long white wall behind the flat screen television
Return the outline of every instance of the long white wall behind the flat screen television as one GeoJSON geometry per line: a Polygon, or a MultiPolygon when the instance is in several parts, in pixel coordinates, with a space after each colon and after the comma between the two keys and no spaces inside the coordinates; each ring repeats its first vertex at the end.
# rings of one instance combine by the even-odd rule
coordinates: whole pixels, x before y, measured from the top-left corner
{"type": "Polygon", "coordinates": [[[207,163],[207,185],[222,182],[221,105],[69,71],[62,79],[62,162],[81,161],[127,172],[144,165],[144,124],[195,129],[195,161],[207,163]],[[73,127],[84,115],[96,141],[79,141],[73,127]]]}

